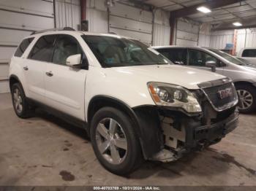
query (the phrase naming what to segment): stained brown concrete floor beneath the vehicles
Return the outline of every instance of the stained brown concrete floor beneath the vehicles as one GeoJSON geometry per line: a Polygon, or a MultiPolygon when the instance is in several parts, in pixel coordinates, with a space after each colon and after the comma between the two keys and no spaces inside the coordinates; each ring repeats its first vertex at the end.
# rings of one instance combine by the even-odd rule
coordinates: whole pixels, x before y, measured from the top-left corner
{"type": "Polygon", "coordinates": [[[256,185],[256,114],[219,144],[121,177],[99,165],[86,134],[47,114],[16,117],[0,94],[0,185],[256,185]]]}

